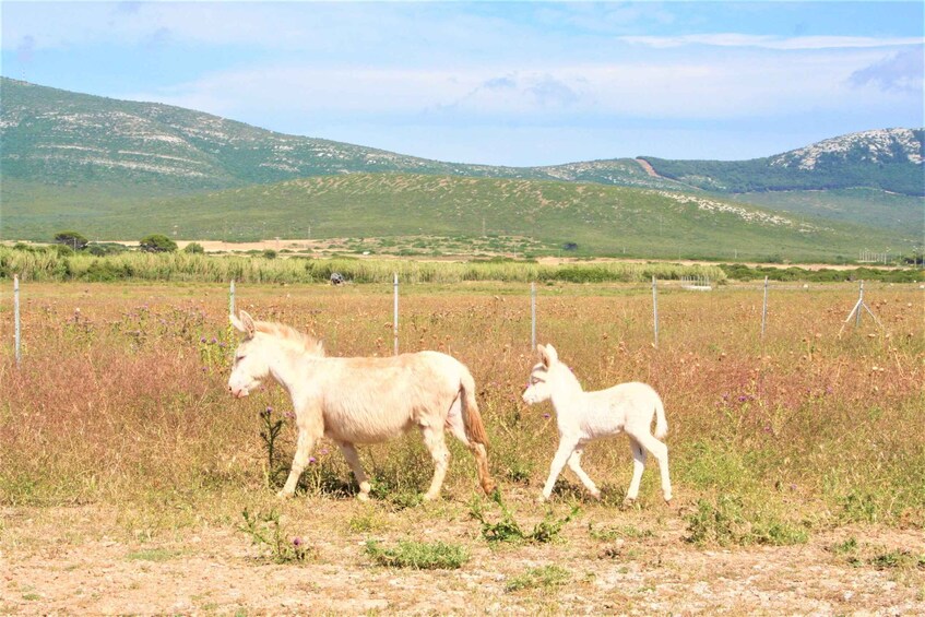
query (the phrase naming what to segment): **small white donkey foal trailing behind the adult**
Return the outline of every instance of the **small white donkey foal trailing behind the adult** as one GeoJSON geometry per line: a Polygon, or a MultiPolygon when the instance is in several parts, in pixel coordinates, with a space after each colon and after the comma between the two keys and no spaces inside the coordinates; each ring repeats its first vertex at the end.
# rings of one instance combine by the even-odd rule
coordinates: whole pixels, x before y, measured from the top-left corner
{"type": "Polygon", "coordinates": [[[568,463],[572,472],[595,498],[601,491],[581,468],[581,453],[588,442],[625,431],[632,450],[632,480],[626,500],[639,495],[639,482],[645,466],[648,450],[659,461],[662,472],[662,494],[672,499],[668,479],[668,448],[659,439],[665,437],[668,424],[659,394],[645,383],[620,383],[607,390],[584,392],[571,369],[559,361],[553,345],[537,345],[541,363],[533,367],[523,401],[531,405],[553,400],[556,423],[559,427],[559,448],[549,467],[549,477],[543,487],[541,500],[549,498],[556,478],[568,463]],[[655,435],[650,426],[655,416],[655,435]]]}

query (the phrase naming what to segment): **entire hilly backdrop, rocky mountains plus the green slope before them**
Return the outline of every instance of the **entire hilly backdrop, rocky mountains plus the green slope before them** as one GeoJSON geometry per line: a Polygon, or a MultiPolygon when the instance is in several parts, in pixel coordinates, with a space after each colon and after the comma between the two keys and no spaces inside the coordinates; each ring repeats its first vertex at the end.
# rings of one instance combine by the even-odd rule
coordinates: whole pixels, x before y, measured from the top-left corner
{"type": "MultiPolygon", "coordinates": [[[[496,230],[553,244],[568,233],[598,253],[636,226],[639,254],[657,229],[659,242],[669,242],[677,254],[686,246],[709,254],[711,247],[742,247],[743,238],[767,234],[761,246],[768,254],[804,247],[804,254],[818,248],[819,254],[844,256],[862,238],[870,246],[918,241],[922,140],[922,130],[888,129],[744,162],[643,157],[495,167],[286,135],[180,107],[2,78],[0,233],[8,239],[47,239],[62,228],[91,235],[173,229],[210,235],[189,239],[242,239],[293,237],[310,223],[328,237],[484,235],[478,230],[487,218],[489,228],[494,219],[496,230]],[[319,182],[319,190],[303,183],[325,178],[332,181],[319,182]],[[340,178],[355,181],[334,181],[340,178]],[[493,181],[478,183],[473,193],[477,180],[493,181]],[[598,192],[607,186],[629,190],[598,192]],[[653,200],[652,191],[676,193],[680,201],[653,200]],[[722,193],[725,202],[716,197],[722,193]],[[821,218],[807,227],[756,227],[766,216],[749,195],[760,195],[772,217],[821,218]],[[731,203],[733,197],[745,207],[731,203]],[[405,199],[415,203],[411,213],[405,199]],[[685,206],[663,216],[675,202],[685,206]],[[250,218],[240,216],[245,212],[250,218]],[[344,212],[352,214],[344,218],[344,212]],[[679,226],[677,233],[669,225],[679,226]]],[[[621,250],[632,248],[619,241],[621,250]]]]}

